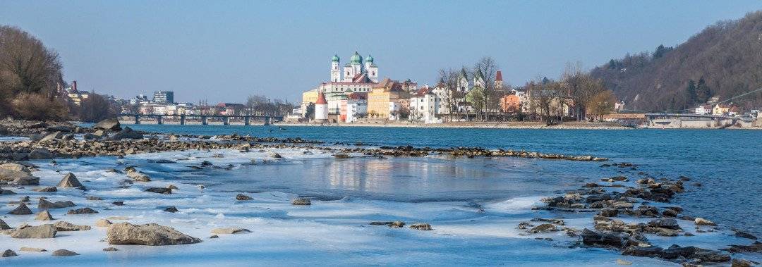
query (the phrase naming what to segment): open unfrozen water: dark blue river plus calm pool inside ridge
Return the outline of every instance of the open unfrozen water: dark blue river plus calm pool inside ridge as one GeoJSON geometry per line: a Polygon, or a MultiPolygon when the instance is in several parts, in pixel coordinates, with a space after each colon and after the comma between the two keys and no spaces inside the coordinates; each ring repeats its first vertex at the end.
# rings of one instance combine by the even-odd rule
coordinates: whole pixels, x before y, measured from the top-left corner
{"type": "MultiPolygon", "coordinates": [[[[757,130],[571,130],[422,129],[380,127],[155,126],[150,132],[259,137],[299,137],[370,145],[485,147],[546,153],[592,154],[639,164],[653,176],[689,176],[674,201],[692,215],[762,234],[762,131],[757,130]]],[[[311,161],[299,167],[274,165],[226,175],[231,190],[279,191],[321,196],[347,195],[411,202],[441,199],[496,199],[537,195],[611,175],[599,164],[515,158],[351,159],[311,161]]],[[[296,165],[294,165],[296,166],[296,165]]],[[[222,173],[220,173],[223,175],[222,173]]],[[[637,178],[635,171],[627,176],[637,178]]],[[[222,188],[224,189],[224,188],[222,188]]]]}

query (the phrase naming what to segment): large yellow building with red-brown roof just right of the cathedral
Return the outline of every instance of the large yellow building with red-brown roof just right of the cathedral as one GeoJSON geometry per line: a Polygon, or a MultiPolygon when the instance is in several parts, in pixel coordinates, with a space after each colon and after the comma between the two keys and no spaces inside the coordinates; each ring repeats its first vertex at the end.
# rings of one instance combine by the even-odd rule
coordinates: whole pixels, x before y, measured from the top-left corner
{"type": "Polygon", "coordinates": [[[399,111],[399,100],[408,98],[408,93],[399,82],[384,78],[368,93],[368,116],[389,119],[393,111],[399,111]]]}

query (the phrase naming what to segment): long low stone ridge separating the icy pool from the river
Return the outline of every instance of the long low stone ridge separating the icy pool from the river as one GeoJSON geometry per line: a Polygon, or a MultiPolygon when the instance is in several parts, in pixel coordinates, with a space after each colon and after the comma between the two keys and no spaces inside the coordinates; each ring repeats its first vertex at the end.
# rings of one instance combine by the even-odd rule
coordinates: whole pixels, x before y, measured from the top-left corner
{"type": "MultiPolygon", "coordinates": [[[[101,131],[101,130],[99,130],[101,131]]],[[[125,131],[125,130],[122,130],[125,131]]],[[[135,132],[135,131],[133,131],[135,132]]],[[[118,135],[117,135],[118,136],[118,135]]],[[[242,137],[239,135],[222,136],[187,136],[187,140],[178,141],[167,138],[167,135],[155,135],[152,138],[115,139],[88,139],[63,140],[47,139],[40,141],[13,141],[5,145],[5,151],[0,153],[0,158],[15,159],[19,154],[30,154],[33,150],[43,149],[49,152],[49,157],[94,157],[99,155],[124,156],[128,154],[144,154],[162,151],[187,151],[194,149],[235,149],[237,151],[250,151],[271,148],[306,148],[308,150],[328,151],[332,154],[341,154],[342,157],[351,157],[349,153],[362,154],[366,157],[425,157],[431,154],[452,155],[456,157],[526,157],[566,161],[608,161],[605,157],[591,155],[566,155],[546,154],[536,151],[515,151],[505,149],[487,148],[415,148],[412,146],[379,148],[331,148],[319,146],[320,142],[304,141],[301,138],[256,138],[242,137]],[[161,137],[161,138],[159,138],[161,137]]],[[[174,135],[171,135],[174,136],[174,135]]],[[[280,154],[269,152],[274,159],[280,158],[280,154]]],[[[63,181],[62,181],[63,182],[63,181]]],[[[72,186],[76,187],[76,186],[72,186]]]]}

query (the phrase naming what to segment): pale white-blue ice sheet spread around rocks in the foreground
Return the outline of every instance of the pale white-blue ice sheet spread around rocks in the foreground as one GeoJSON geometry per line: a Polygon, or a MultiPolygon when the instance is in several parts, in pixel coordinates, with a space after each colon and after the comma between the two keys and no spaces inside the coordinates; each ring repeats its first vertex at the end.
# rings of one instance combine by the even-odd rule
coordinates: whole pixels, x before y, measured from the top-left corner
{"type": "MultiPolygon", "coordinates": [[[[105,229],[62,232],[51,240],[12,240],[0,236],[0,249],[17,250],[20,256],[0,259],[3,265],[614,265],[626,259],[637,265],[666,265],[658,259],[620,256],[608,250],[568,249],[565,233],[541,235],[554,241],[535,240],[524,236],[516,225],[531,218],[551,218],[549,211],[533,211],[540,196],[525,196],[495,201],[475,202],[398,202],[388,199],[346,197],[337,200],[313,199],[312,205],[291,205],[297,195],[287,192],[225,192],[186,183],[187,179],[224,183],[224,171],[209,168],[190,170],[186,165],[200,166],[210,161],[216,166],[234,167],[255,161],[274,160],[278,164],[300,164],[311,158],[332,157],[328,153],[303,154],[298,148],[274,149],[283,158],[267,157],[266,152],[251,151],[185,151],[126,156],[125,165],[117,165],[115,157],[91,157],[61,160],[56,166],[37,161],[43,186],[51,186],[67,172],[75,173],[88,187],[59,189],[59,192],[31,191],[31,187],[14,189],[18,195],[0,195],[0,202],[30,195],[30,208],[37,212],[40,196],[50,201],[72,200],[75,208],[91,207],[95,215],[66,215],[67,208],[51,210],[54,218],[72,224],[94,225],[101,218],[114,223],[157,223],[203,239],[202,243],[178,246],[116,246],[120,251],[104,253],[105,229]],[[214,154],[222,154],[216,157],[214,154]],[[149,160],[170,159],[177,163],[149,160]],[[106,170],[136,166],[152,176],[152,182],[135,183],[123,188],[118,181],[128,179],[126,173],[106,170]],[[89,181],[89,182],[85,182],[89,181]],[[149,186],[178,186],[170,195],[144,192],[149,186]],[[244,193],[251,200],[237,201],[244,193]],[[104,200],[85,200],[95,195],[104,200]],[[125,205],[111,205],[123,201],[125,205]],[[163,211],[175,206],[178,212],[163,211]],[[434,230],[411,230],[370,225],[371,221],[405,221],[429,223],[434,230]],[[220,235],[208,239],[216,227],[242,227],[249,234],[220,235]],[[66,249],[81,256],[56,258],[50,253],[26,253],[18,247],[41,247],[48,251],[66,249]]],[[[195,180],[193,180],[195,181],[195,180]]],[[[14,206],[0,207],[6,213],[14,206]]],[[[32,225],[34,215],[8,215],[3,218],[11,226],[32,225]]],[[[588,218],[565,218],[574,227],[591,227],[588,218]]],[[[706,240],[715,237],[706,236],[706,240]]],[[[701,239],[699,239],[701,240],[701,239]]],[[[655,242],[661,242],[658,238],[655,242]]],[[[666,241],[665,241],[666,242],[666,241]]],[[[701,241],[699,241],[701,242],[701,241]]],[[[707,241],[708,242],[708,241],[707,241]]],[[[702,244],[703,245],[703,244],[702,244]]]]}

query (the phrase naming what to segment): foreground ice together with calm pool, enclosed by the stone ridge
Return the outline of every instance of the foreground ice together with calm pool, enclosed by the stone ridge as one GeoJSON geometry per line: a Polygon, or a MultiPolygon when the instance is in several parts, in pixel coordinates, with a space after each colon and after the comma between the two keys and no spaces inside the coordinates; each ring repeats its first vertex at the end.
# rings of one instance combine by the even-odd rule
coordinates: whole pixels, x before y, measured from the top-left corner
{"type": "MultiPolygon", "coordinates": [[[[100,218],[126,217],[133,224],[158,223],[203,239],[179,246],[115,246],[105,253],[100,242],[105,229],[59,232],[53,240],[18,240],[0,236],[0,249],[20,256],[0,259],[2,265],[615,265],[626,259],[637,265],[667,265],[657,259],[620,256],[608,250],[568,248],[565,232],[526,236],[516,225],[530,218],[565,216],[567,225],[592,227],[590,214],[552,214],[533,211],[541,195],[551,195],[587,180],[610,176],[594,163],[541,161],[520,158],[351,158],[299,149],[275,149],[283,158],[267,159],[267,152],[178,151],[139,154],[124,159],[85,157],[59,160],[57,166],[37,161],[42,186],[51,186],[66,172],[75,173],[88,187],[59,192],[34,192],[34,186],[0,195],[9,202],[23,195],[50,201],[72,200],[75,208],[91,207],[96,215],[66,215],[69,208],[50,212],[74,224],[94,225],[100,218]],[[213,157],[223,154],[223,157],[213,157]],[[170,159],[176,163],[158,164],[170,159]],[[267,162],[264,160],[267,159],[267,162]],[[252,163],[252,160],[254,160],[252,163]],[[210,161],[216,167],[196,170],[210,161]],[[232,166],[229,166],[231,164],[232,166]],[[122,188],[134,166],[152,182],[122,188]],[[584,174],[583,174],[584,173],[584,174]],[[143,192],[150,186],[178,186],[171,195],[143,192]],[[199,185],[203,185],[202,189],[199,185]],[[235,201],[246,192],[251,201],[235,201]],[[103,201],[88,201],[96,195],[103,201]],[[311,206],[290,205],[296,195],[317,199],[311,206]],[[125,205],[111,205],[123,201],[125,205]],[[174,205],[177,213],[163,212],[174,205]],[[426,222],[434,230],[392,229],[368,225],[370,221],[426,222]],[[208,239],[216,227],[243,227],[251,234],[221,235],[208,239]],[[551,237],[553,241],[535,240],[551,237]],[[81,256],[50,258],[50,253],[22,252],[21,246],[49,251],[73,250],[81,256]]],[[[14,206],[0,208],[5,214],[14,206]]],[[[5,215],[11,226],[43,224],[34,215],[5,215]]],[[[114,219],[114,222],[123,220],[114,219]]],[[[690,227],[687,227],[690,229],[690,227]]],[[[680,237],[682,238],[682,237],[680,237]]],[[[709,246],[718,234],[694,237],[709,246]]],[[[688,240],[688,238],[686,238],[688,240]]],[[[659,240],[664,246],[670,240],[659,240]]],[[[731,242],[733,243],[733,242],[731,242]]],[[[661,244],[661,243],[660,243],[661,244]]]]}

